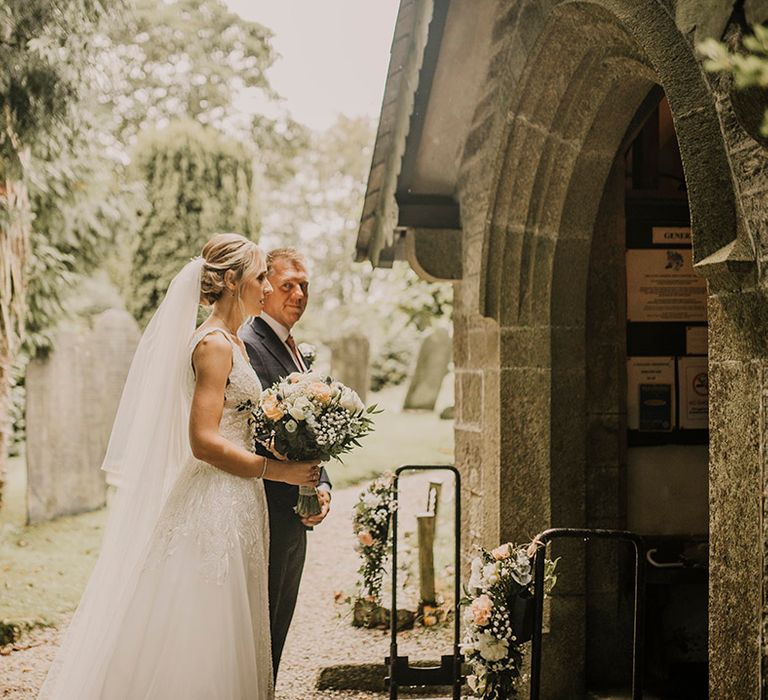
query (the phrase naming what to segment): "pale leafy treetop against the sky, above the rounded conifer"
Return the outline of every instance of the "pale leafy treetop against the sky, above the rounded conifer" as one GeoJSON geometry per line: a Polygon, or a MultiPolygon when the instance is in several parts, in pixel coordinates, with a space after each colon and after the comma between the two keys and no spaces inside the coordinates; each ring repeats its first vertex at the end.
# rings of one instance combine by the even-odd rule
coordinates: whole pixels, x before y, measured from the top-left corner
{"type": "Polygon", "coordinates": [[[104,111],[117,140],[128,144],[180,118],[247,133],[237,97],[277,97],[266,78],[275,60],[271,38],[221,0],[132,0],[104,49],[111,67],[104,111]]]}

